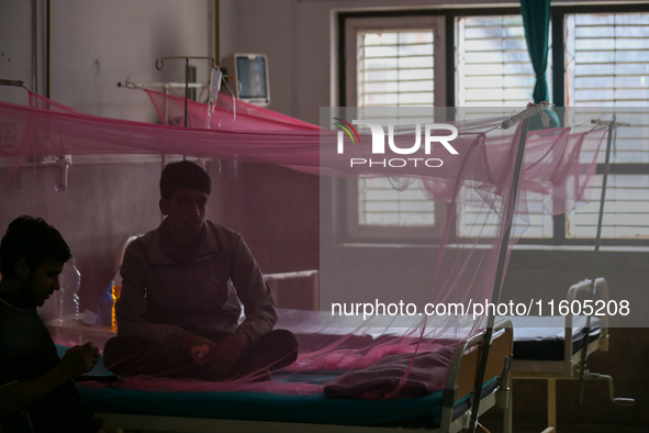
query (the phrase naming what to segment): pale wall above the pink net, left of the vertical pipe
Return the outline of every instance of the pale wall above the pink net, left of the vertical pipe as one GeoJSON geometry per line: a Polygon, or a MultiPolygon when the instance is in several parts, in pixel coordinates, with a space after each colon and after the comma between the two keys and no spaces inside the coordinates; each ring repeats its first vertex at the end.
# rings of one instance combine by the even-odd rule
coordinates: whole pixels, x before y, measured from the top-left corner
{"type": "MultiPolygon", "coordinates": [[[[45,2],[35,2],[38,41],[38,93],[46,95],[45,2]]],[[[118,81],[183,81],[184,62],[156,69],[164,56],[213,56],[214,0],[57,0],[51,2],[49,95],[88,113],[155,121],[144,92],[118,88],[118,81]]],[[[32,85],[32,7],[29,1],[0,3],[0,78],[32,85]]],[[[193,60],[199,80],[208,63],[193,60]]],[[[15,101],[14,89],[0,98],[15,101]],[[7,98],[5,96],[9,96],[7,98]]]]}

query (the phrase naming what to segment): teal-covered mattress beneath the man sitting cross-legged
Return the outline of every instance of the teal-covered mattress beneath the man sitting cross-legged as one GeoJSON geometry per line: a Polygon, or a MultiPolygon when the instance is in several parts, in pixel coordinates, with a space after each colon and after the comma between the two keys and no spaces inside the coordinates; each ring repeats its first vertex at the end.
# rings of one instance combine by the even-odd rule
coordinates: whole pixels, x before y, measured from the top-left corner
{"type": "MultiPolygon", "coordinates": [[[[63,356],[66,346],[57,345],[63,356]]],[[[288,376],[288,380],[322,384],[343,371],[313,371],[288,376]]],[[[286,374],[276,373],[273,378],[286,374]]],[[[382,425],[402,421],[416,421],[437,426],[441,415],[443,390],[425,397],[399,400],[331,399],[323,393],[307,396],[277,395],[249,391],[181,392],[120,388],[111,373],[103,366],[103,357],[87,375],[104,377],[103,387],[97,381],[79,381],[77,388],[83,403],[93,412],[126,413],[138,415],[165,415],[179,418],[205,418],[247,421],[275,421],[335,425],[382,425]]],[[[488,396],[497,387],[492,378],[482,389],[488,396]]],[[[471,408],[472,395],[465,396],[454,408],[454,419],[471,408]]]]}

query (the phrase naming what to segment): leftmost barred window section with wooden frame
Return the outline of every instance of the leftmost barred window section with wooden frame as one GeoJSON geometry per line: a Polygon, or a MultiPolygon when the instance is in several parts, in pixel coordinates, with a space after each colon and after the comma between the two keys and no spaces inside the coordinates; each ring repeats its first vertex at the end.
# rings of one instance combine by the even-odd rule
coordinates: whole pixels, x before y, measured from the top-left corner
{"type": "MultiPolygon", "coordinates": [[[[440,27],[437,16],[348,20],[347,106],[444,106],[440,27]]],[[[354,236],[412,238],[440,225],[419,180],[361,177],[348,181],[347,195],[354,236]]]]}

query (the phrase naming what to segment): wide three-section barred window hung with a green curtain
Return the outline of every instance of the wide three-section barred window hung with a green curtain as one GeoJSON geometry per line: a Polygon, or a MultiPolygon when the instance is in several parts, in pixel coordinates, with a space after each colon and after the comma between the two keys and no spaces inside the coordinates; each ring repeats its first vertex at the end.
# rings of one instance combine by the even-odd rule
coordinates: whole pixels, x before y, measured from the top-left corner
{"type": "MultiPolygon", "coordinates": [[[[401,16],[389,12],[340,16],[345,36],[342,106],[521,107],[530,100],[535,75],[517,8],[471,10],[470,14],[465,9],[393,14],[401,16]]],[[[617,133],[606,193],[605,243],[649,243],[649,120],[644,114],[649,107],[647,22],[647,4],[552,7],[547,70],[550,101],[558,107],[605,107],[609,114],[615,111],[618,121],[633,124],[617,133]]],[[[567,124],[583,127],[602,114],[574,113],[566,119],[567,124]]],[[[593,201],[567,215],[531,215],[526,242],[592,243],[589,237],[595,233],[604,152],[598,157],[593,201]]],[[[355,208],[354,224],[381,225],[384,230],[374,234],[390,237],[398,226],[441,222],[440,210],[435,208],[428,209],[427,220],[409,220],[409,211],[419,210],[424,202],[413,197],[416,186],[398,189],[389,179],[361,179],[348,186],[354,196],[348,199],[349,208],[355,208]]],[[[470,237],[471,227],[484,218],[471,209],[459,209],[457,214],[459,236],[470,237]]],[[[354,231],[349,233],[355,236],[354,231]]]]}

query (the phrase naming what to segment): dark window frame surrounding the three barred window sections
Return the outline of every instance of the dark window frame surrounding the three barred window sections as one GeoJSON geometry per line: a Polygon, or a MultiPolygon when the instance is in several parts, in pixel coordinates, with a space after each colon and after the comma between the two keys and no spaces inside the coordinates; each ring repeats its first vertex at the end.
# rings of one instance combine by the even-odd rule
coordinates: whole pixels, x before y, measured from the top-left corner
{"type": "MultiPolygon", "coordinates": [[[[566,64],[564,64],[564,49],[566,41],[563,35],[566,34],[566,15],[575,13],[633,13],[633,12],[649,12],[649,3],[627,3],[627,4],[579,4],[579,5],[551,5],[551,33],[550,44],[552,47],[552,96],[553,103],[557,107],[566,107],[566,64]]],[[[337,51],[337,89],[336,99],[339,107],[350,107],[348,95],[349,92],[356,91],[348,89],[347,82],[347,68],[354,66],[348,65],[349,57],[346,53],[346,41],[348,30],[346,27],[347,20],[353,19],[388,19],[395,16],[426,16],[436,15],[439,20],[444,20],[444,45],[446,57],[446,74],[445,81],[447,89],[445,95],[445,107],[456,107],[456,71],[455,66],[457,63],[455,52],[455,37],[456,37],[456,18],[459,16],[488,16],[488,15],[505,15],[505,14],[521,14],[519,7],[504,7],[504,8],[475,8],[475,9],[423,9],[423,10],[392,10],[392,11],[372,11],[372,12],[339,12],[337,15],[338,23],[338,51],[337,51]],[[449,62],[449,56],[452,62],[449,62]]],[[[355,82],[355,81],[350,81],[355,82]]],[[[437,86],[436,86],[437,89],[437,86]]],[[[435,97],[437,101],[437,96],[435,97]]],[[[356,98],[354,99],[356,102],[356,98]]],[[[605,145],[605,143],[604,143],[605,145]]],[[[604,173],[604,164],[597,164],[596,174],[601,175],[604,173]]],[[[611,175],[649,175],[649,164],[633,163],[633,164],[611,164],[608,173],[611,175]]],[[[336,182],[336,181],[335,181],[336,182]]],[[[344,185],[334,187],[336,190],[336,199],[344,206],[350,206],[351,201],[348,198],[348,188],[344,185]]],[[[354,212],[355,214],[358,211],[354,212]]],[[[349,209],[348,212],[349,213],[349,209]]],[[[552,216],[552,237],[550,238],[521,238],[518,243],[530,244],[530,245],[592,245],[593,238],[567,238],[566,237],[566,214],[559,214],[552,216]]],[[[349,231],[347,221],[338,221],[336,224],[336,237],[344,241],[358,241],[358,236],[349,231]]],[[[451,242],[456,240],[455,226],[451,230],[451,242]]],[[[406,236],[411,237],[411,236],[406,236]]],[[[362,241],[368,241],[363,238],[362,241]]],[[[376,242],[393,243],[400,241],[406,241],[413,243],[412,240],[404,238],[401,236],[377,236],[376,242]]],[[[417,243],[415,241],[415,243],[417,243]]],[[[602,245],[616,245],[616,246],[646,246],[649,245],[649,238],[602,238],[602,245]]]]}

